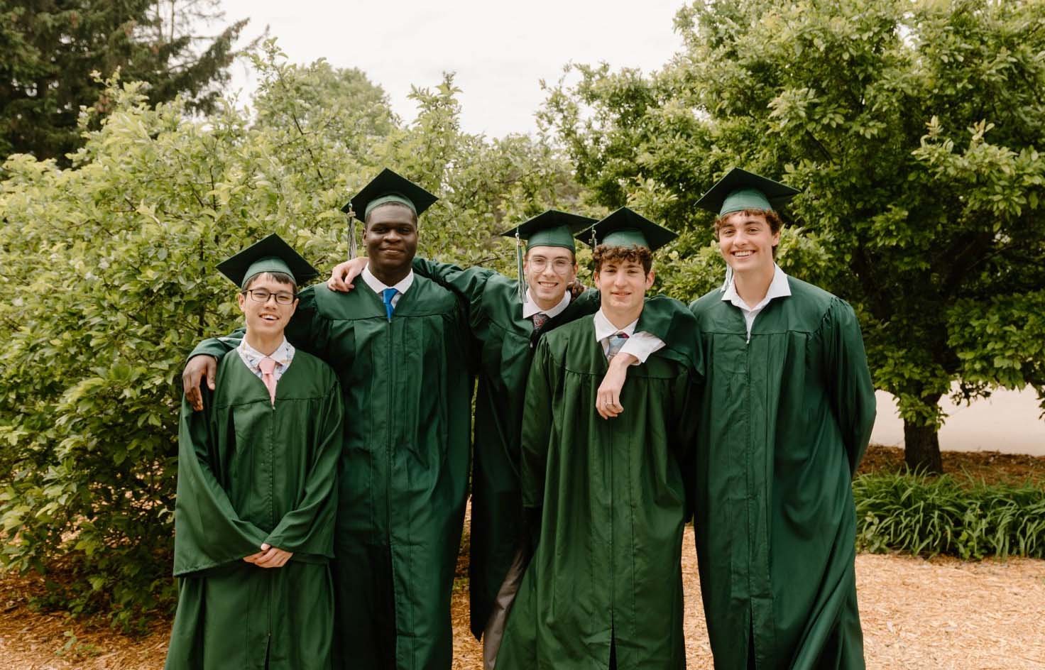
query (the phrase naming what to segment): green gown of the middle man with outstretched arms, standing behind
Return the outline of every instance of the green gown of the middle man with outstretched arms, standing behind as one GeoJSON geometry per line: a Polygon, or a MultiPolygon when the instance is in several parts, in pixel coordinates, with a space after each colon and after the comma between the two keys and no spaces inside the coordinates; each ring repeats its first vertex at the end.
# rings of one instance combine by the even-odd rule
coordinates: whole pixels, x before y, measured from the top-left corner
{"type": "MultiPolygon", "coordinates": [[[[471,472],[471,531],[468,584],[471,631],[479,638],[497,592],[522,541],[519,436],[522,399],[534,347],[542,333],[599,309],[599,293],[586,291],[539,331],[522,316],[518,282],[485,268],[414,259],[414,270],[461,296],[481,354],[475,397],[471,472]]],[[[665,340],[684,340],[692,317],[676,300],[647,301],[636,330],[665,340]]],[[[689,344],[689,342],[687,343],[689,344]]],[[[594,407],[594,406],[593,406],[594,407]]]]}

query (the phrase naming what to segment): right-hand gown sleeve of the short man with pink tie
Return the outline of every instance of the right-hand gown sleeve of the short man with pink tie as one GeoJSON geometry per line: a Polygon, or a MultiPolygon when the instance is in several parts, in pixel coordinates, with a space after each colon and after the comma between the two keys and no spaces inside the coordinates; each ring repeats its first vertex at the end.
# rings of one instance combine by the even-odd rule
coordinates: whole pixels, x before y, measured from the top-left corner
{"type": "Polygon", "coordinates": [[[330,388],[317,413],[321,422],[316,433],[319,444],[304,490],[295,508],[283,515],[264,539],[265,544],[284,551],[332,557],[344,414],[341,386],[336,378],[331,378],[330,388]]]}

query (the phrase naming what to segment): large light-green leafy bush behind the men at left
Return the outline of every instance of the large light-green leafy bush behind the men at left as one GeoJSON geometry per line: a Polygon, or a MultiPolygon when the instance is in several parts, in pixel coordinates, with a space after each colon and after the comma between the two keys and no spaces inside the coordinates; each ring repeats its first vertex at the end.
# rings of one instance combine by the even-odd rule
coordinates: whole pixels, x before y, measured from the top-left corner
{"type": "Polygon", "coordinates": [[[47,575],[73,613],[132,625],[172,604],[180,372],[240,320],[219,260],[275,231],[331,268],[340,207],[382,165],[442,197],[420,247],[443,259],[503,262],[489,232],[580,198],[541,140],[462,133],[449,75],[414,91],[407,123],[358,72],[286,64],[273,43],[256,65],[254,115],[194,118],[110,79],[71,168],[4,165],[0,563],[47,575]]]}

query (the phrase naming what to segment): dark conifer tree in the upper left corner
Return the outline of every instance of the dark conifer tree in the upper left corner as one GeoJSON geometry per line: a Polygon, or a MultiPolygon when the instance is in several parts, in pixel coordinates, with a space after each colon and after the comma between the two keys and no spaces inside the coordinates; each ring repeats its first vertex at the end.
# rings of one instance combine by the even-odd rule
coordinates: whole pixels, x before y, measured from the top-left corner
{"type": "Polygon", "coordinates": [[[147,82],[152,102],[182,94],[187,110],[213,111],[247,25],[195,32],[220,19],[217,0],[0,0],[0,160],[25,153],[68,165],[83,142],[80,107],[110,105],[94,71],[147,82]]]}

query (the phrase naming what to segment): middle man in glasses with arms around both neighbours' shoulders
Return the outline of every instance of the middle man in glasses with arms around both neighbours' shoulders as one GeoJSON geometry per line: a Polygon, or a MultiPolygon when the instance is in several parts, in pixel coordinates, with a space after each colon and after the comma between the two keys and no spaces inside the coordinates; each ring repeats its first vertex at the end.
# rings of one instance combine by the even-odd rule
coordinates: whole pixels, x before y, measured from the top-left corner
{"type": "MultiPolygon", "coordinates": [[[[483,640],[484,665],[494,667],[524,558],[519,436],[522,398],[530,362],[540,337],[599,308],[599,293],[576,298],[568,291],[577,276],[574,235],[596,220],[554,209],[502,236],[516,242],[518,279],[486,268],[462,270],[423,258],[414,271],[457,293],[467,305],[472,336],[481,348],[473,438],[471,535],[468,560],[471,630],[483,640]],[[525,242],[525,247],[524,247],[525,242]]],[[[328,285],[348,290],[365,259],[334,269],[328,285]]],[[[671,330],[673,318],[692,320],[677,301],[653,298],[624,350],[644,362],[663,346],[654,333],[671,330]]]]}

